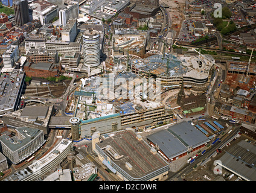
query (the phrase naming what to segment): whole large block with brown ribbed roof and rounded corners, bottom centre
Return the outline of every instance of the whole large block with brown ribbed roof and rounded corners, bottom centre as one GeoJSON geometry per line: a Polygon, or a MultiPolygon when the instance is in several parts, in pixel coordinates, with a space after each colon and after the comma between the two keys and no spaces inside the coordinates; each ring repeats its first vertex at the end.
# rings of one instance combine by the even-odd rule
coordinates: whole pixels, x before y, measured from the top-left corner
{"type": "Polygon", "coordinates": [[[132,130],[92,137],[92,150],[112,172],[126,181],[161,180],[168,174],[168,163],[132,130]]]}

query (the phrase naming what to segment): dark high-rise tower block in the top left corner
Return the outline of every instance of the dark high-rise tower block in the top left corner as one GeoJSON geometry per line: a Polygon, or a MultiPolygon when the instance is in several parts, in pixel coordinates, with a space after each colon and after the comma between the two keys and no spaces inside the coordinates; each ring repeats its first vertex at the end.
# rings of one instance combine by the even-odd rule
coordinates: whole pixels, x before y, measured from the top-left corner
{"type": "Polygon", "coordinates": [[[30,22],[30,16],[28,14],[28,1],[27,0],[15,0],[13,1],[13,9],[15,14],[15,21],[18,27],[30,22]]]}

